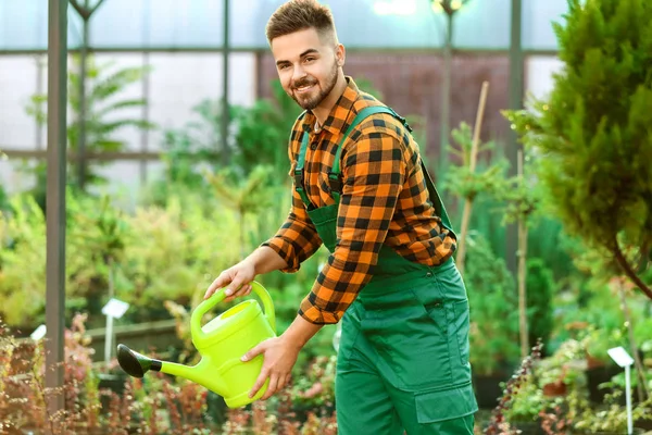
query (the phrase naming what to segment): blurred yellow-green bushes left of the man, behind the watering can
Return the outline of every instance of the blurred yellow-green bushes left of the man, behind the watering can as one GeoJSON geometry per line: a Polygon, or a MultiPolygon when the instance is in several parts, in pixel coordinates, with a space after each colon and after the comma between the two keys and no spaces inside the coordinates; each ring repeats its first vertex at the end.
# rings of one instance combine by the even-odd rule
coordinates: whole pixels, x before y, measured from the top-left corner
{"type": "MultiPolygon", "coordinates": [[[[72,191],[66,202],[67,318],[86,311],[93,327],[103,322],[109,259],[115,265],[115,296],[131,304],[125,321],[142,322],[164,316],[166,299],[190,303],[215,270],[239,256],[229,236],[237,221],[228,211],[181,209],[180,201],[171,198],[166,208],[126,213],[106,199],[72,191]]],[[[12,210],[0,213],[0,311],[11,325],[35,327],[45,319],[46,224],[30,196],[12,198],[12,210]]]]}

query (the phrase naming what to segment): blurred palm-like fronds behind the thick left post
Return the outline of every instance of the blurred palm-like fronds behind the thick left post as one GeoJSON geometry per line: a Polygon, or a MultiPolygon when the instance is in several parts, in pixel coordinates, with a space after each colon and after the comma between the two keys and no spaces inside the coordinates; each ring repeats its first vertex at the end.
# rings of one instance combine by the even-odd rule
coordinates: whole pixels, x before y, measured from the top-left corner
{"type": "MultiPolygon", "coordinates": [[[[79,63],[79,57],[74,55],[73,66],[79,63]]],[[[123,151],[126,142],[115,135],[123,128],[136,127],[140,129],[154,128],[154,125],[140,119],[131,117],[130,109],[141,108],[147,104],[145,99],[129,99],[121,97],[129,86],[137,84],[149,73],[148,69],[141,66],[115,69],[114,62],[98,64],[92,57],[88,58],[88,69],[86,80],[89,82],[89,88],[86,96],[86,152],[116,152],[123,151]]],[[[68,92],[67,107],[71,111],[71,122],[68,123],[66,134],[68,138],[67,149],[72,152],[78,151],[80,135],[80,98],[79,82],[82,77],[78,73],[78,66],[68,72],[68,92]]],[[[48,120],[46,110],[48,97],[46,95],[35,95],[32,97],[26,108],[27,114],[34,116],[37,123],[45,125],[48,120]]],[[[102,176],[97,167],[103,163],[87,163],[86,184],[104,185],[106,178],[102,176]]],[[[77,186],[77,166],[74,161],[68,164],[68,185],[77,186]]],[[[45,207],[46,195],[46,163],[38,163],[35,167],[24,166],[24,170],[32,172],[37,177],[37,184],[34,194],[38,198],[41,207],[45,207]]]]}

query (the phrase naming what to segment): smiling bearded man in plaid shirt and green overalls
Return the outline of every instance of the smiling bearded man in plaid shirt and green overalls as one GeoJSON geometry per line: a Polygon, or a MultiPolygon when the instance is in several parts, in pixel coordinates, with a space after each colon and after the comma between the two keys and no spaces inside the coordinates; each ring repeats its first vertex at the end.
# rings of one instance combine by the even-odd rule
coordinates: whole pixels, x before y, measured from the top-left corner
{"type": "Polygon", "coordinates": [[[243,357],[264,356],[251,396],[266,380],[263,399],[281,389],[308,340],[342,320],[340,434],[473,434],[466,290],[417,144],[400,116],[344,76],[327,8],[288,1],[266,34],[284,89],[305,110],[289,144],[292,208],[205,298],[225,286],[228,300],[248,295],[255,275],[296,272],[322,244],[330,256],[288,330],[243,357]]]}

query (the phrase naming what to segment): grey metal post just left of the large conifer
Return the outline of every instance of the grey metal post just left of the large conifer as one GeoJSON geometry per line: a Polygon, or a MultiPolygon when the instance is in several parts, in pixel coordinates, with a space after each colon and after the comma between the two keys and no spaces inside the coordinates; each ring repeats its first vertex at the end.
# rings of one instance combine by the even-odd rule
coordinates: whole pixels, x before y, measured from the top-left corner
{"type": "MultiPolygon", "coordinates": [[[[511,110],[523,108],[523,47],[521,44],[522,34],[522,0],[512,0],[512,36],[510,42],[510,95],[509,105],[511,110]]],[[[518,167],[518,150],[516,132],[510,129],[506,146],[506,157],[510,161],[510,175],[514,176],[518,167]]],[[[518,251],[518,227],[516,224],[509,224],[505,228],[505,261],[507,270],[514,275],[517,273],[517,251],[518,251]]]]}

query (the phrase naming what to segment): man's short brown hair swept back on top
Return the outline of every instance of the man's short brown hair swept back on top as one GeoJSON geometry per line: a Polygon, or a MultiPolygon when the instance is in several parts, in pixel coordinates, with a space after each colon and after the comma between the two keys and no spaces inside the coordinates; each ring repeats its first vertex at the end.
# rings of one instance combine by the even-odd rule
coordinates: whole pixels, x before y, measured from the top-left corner
{"type": "Polygon", "coordinates": [[[319,38],[330,38],[337,44],[333,13],[317,0],[290,0],[281,4],[269,17],[265,34],[272,44],[274,38],[309,28],[317,30],[319,38]]]}

